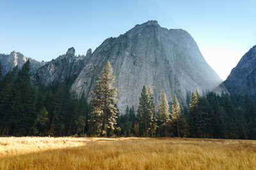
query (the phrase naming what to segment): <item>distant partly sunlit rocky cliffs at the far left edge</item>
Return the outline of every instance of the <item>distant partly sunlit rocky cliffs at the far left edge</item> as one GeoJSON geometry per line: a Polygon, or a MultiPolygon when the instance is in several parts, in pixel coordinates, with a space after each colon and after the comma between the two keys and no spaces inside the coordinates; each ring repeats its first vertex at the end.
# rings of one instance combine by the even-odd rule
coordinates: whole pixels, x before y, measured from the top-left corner
{"type": "Polygon", "coordinates": [[[36,69],[44,65],[44,62],[38,62],[15,51],[11,52],[9,55],[0,54],[3,75],[11,71],[15,66],[18,66],[20,69],[28,59],[30,61],[31,73],[34,73],[36,69]]]}

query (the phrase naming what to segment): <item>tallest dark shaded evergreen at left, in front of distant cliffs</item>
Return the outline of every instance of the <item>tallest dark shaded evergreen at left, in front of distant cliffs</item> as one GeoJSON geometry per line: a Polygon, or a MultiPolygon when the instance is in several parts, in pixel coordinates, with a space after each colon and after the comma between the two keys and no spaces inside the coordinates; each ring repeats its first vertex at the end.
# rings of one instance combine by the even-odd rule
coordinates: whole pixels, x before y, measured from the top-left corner
{"type": "Polygon", "coordinates": [[[25,62],[13,84],[12,133],[17,136],[28,135],[36,118],[35,91],[30,85],[30,62],[25,62]]]}

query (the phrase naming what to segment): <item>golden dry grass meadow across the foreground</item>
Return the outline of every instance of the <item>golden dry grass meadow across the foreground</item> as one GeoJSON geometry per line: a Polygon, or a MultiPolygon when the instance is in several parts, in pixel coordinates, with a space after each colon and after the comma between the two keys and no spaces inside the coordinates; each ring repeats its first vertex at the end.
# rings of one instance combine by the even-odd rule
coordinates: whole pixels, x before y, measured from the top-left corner
{"type": "Polygon", "coordinates": [[[0,138],[0,169],[256,169],[256,141],[0,138]]]}

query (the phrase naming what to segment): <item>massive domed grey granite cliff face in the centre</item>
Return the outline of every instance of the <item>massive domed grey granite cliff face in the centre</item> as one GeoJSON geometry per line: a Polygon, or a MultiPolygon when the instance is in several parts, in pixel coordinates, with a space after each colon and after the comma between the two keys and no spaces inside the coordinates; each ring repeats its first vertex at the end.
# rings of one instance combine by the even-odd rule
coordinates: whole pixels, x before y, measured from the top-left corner
{"type": "Polygon", "coordinates": [[[138,106],[143,85],[152,85],[158,105],[161,91],[169,101],[176,95],[186,104],[186,94],[198,87],[212,90],[221,83],[220,77],[205,62],[190,34],[182,29],[165,29],[157,21],[136,25],[118,38],[106,39],[87,60],[74,81],[72,90],[78,96],[92,98],[91,90],[109,60],[118,88],[118,109],[138,106]]]}

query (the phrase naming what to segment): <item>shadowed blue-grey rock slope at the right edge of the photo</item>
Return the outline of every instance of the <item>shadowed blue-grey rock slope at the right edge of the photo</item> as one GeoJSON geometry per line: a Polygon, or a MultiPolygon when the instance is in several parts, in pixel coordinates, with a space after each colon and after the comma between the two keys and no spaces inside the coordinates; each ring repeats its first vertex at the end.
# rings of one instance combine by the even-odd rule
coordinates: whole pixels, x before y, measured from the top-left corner
{"type": "Polygon", "coordinates": [[[230,94],[248,94],[256,98],[256,46],[253,46],[221,83],[230,94]]]}

